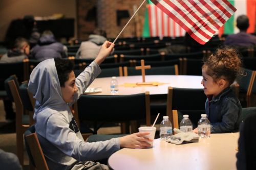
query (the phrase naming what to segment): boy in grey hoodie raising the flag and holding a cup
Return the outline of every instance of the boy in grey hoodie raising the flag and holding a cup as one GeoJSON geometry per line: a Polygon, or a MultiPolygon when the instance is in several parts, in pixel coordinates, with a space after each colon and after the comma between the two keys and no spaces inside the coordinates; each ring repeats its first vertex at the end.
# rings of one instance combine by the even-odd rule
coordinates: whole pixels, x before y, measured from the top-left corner
{"type": "MultiPolygon", "coordinates": [[[[40,62],[30,75],[28,90],[36,99],[35,131],[49,169],[109,169],[92,162],[108,158],[120,148],[146,148],[149,132],[139,132],[106,141],[84,142],[70,106],[100,74],[99,64],[114,44],[105,41],[97,58],[75,78],[70,60],[40,62]]],[[[99,103],[100,106],[100,103],[99,103]]]]}

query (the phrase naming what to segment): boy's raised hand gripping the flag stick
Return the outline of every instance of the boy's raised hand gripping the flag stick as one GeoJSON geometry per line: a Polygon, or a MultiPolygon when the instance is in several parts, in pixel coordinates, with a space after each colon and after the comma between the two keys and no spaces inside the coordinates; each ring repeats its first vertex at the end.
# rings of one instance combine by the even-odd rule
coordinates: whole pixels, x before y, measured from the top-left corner
{"type": "Polygon", "coordinates": [[[95,58],[95,62],[100,65],[106,57],[110,55],[110,53],[113,51],[115,44],[109,41],[105,41],[102,46],[100,47],[99,54],[95,58]]]}

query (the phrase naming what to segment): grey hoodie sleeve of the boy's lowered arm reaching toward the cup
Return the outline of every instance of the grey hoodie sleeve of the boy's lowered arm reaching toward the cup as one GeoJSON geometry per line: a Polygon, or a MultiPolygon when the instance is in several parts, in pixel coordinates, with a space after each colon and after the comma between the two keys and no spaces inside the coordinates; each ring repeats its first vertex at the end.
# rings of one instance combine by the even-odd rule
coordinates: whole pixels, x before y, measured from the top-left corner
{"type": "Polygon", "coordinates": [[[120,149],[119,138],[106,141],[84,142],[70,128],[65,116],[60,113],[52,114],[47,122],[46,138],[61,152],[78,161],[104,159],[120,149]]]}

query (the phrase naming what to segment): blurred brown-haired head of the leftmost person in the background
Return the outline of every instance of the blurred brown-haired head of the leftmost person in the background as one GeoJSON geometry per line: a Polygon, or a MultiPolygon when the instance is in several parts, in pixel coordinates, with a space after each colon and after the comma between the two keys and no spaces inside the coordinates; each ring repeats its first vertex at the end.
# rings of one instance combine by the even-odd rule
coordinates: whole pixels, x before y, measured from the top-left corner
{"type": "Polygon", "coordinates": [[[20,53],[29,55],[30,45],[29,45],[28,40],[23,37],[18,37],[14,42],[12,51],[16,51],[16,52],[20,52],[20,53]]]}

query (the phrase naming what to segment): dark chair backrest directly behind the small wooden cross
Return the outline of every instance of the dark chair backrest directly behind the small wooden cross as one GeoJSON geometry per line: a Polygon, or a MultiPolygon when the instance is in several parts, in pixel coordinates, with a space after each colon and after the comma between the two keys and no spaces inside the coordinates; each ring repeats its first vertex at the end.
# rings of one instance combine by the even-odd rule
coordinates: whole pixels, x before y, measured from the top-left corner
{"type": "MultiPolygon", "coordinates": [[[[135,67],[123,67],[124,76],[138,76],[141,75],[141,70],[135,69],[135,67]]],[[[145,70],[145,75],[179,75],[178,65],[151,67],[151,69],[145,70]]]]}

